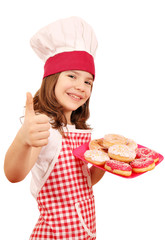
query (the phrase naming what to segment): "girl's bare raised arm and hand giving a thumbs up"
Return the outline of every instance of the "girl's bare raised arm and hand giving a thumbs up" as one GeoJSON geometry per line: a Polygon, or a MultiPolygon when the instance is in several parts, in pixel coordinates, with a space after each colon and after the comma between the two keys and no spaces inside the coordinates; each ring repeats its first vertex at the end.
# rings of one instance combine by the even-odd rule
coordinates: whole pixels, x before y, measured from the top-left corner
{"type": "Polygon", "coordinates": [[[33,97],[27,93],[24,123],[5,156],[4,171],[9,181],[19,182],[27,176],[41,147],[48,143],[49,128],[49,118],[35,114],[33,97]]]}

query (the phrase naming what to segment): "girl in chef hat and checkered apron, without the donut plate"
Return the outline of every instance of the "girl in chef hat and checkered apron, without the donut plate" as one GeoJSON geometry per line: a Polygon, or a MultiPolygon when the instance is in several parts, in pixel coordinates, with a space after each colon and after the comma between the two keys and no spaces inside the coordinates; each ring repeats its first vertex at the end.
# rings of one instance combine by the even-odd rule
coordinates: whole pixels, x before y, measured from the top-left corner
{"type": "Polygon", "coordinates": [[[92,186],[104,171],[73,155],[89,142],[89,99],[95,78],[97,40],[82,19],[71,17],[42,28],[31,46],[44,60],[34,98],[27,93],[24,123],[5,157],[9,181],[32,172],[31,192],[40,217],[31,240],[96,239],[92,186]]]}

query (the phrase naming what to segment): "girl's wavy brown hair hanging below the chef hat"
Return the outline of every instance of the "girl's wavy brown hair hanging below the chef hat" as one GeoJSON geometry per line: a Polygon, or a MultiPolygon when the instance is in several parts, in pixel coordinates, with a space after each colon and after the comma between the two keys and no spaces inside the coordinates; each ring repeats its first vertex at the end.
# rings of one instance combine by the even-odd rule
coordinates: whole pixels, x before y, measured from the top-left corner
{"type": "MultiPolygon", "coordinates": [[[[45,77],[42,80],[40,89],[36,92],[33,102],[36,113],[44,113],[51,118],[51,125],[58,129],[62,135],[63,126],[67,125],[66,117],[63,113],[63,107],[57,102],[55,96],[55,86],[60,73],[45,77]]],[[[89,99],[84,105],[76,109],[71,114],[71,123],[75,124],[77,129],[91,129],[86,124],[89,118],[89,99]]]]}

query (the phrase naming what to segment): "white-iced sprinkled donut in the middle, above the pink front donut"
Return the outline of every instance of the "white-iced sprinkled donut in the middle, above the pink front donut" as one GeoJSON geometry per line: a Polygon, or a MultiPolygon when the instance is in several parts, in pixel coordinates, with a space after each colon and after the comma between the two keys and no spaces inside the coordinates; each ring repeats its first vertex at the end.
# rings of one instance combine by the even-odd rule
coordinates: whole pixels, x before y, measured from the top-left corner
{"type": "Polygon", "coordinates": [[[124,144],[116,144],[108,148],[108,155],[118,161],[131,162],[135,159],[136,152],[124,144]]]}

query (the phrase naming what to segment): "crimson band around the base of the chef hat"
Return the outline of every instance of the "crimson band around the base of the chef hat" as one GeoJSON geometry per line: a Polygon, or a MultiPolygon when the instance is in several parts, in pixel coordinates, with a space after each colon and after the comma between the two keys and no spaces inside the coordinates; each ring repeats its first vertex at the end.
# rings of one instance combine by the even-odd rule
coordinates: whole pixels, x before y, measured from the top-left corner
{"type": "Polygon", "coordinates": [[[86,71],[91,73],[95,78],[93,56],[86,51],[58,53],[47,59],[44,66],[44,77],[69,70],[86,71]]]}

